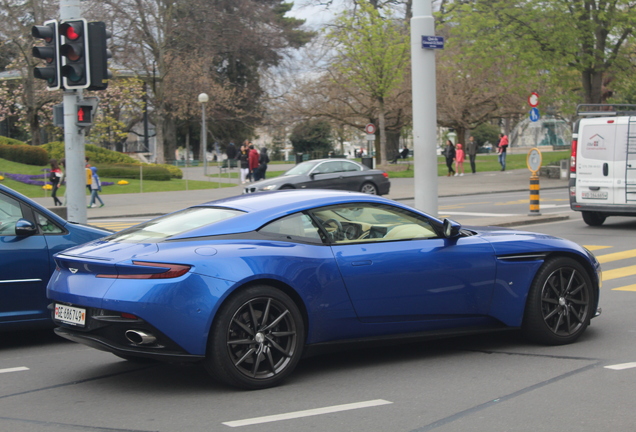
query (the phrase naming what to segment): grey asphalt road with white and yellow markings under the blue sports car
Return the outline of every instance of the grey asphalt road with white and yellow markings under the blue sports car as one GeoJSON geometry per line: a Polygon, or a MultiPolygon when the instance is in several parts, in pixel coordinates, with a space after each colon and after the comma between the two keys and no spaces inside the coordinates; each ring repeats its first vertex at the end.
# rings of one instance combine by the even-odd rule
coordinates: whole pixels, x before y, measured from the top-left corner
{"type": "Polygon", "coordinates": [[[304,359],[281,387],[245,392],[198,365],[133,364],[50,332],[2,334],[0,431],[634,430],[636,218],[525,228],[603,262],[603,314],[575,344],[505,332],[342,351],[304,359]]]}

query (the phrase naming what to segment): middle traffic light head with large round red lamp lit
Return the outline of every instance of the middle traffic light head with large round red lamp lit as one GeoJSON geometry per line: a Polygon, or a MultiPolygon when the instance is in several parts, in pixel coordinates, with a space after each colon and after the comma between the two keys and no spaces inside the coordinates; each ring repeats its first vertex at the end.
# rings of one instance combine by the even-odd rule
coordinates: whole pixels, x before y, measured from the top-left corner
{"type": "Polygon", "coordinates": [[[86,20],[64,21],[59,28],[63,41],[60,47],[62,85],[68,90],[88,88],[91,83],[86,20]]]}

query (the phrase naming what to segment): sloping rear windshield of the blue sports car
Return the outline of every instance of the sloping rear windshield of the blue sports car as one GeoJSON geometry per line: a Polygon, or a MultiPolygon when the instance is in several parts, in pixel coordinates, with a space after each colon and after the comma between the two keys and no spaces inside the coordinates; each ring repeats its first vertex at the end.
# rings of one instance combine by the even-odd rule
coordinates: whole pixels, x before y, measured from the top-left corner
{"type": "Polygon", "coordinates": [[[126,243],[157,242],[242,213],[226,208],[192,207],[120,231],[105,240],[126,243]]]}

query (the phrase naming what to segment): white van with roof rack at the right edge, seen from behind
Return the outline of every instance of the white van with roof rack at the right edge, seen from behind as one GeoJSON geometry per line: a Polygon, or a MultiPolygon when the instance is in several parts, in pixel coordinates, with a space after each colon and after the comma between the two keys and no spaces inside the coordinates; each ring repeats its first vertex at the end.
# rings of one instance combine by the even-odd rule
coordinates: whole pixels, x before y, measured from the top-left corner
{"type": "Polygon", "coordinates": [[[570,207],[591,226],[636,216],[636,105],[577,108],[570,160],[570,207]]]}

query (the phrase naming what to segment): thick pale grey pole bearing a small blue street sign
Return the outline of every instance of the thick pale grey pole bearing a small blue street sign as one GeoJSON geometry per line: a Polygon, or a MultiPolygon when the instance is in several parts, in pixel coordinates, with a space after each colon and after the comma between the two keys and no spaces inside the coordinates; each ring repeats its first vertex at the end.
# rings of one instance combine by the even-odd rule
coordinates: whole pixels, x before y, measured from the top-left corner
{"type": "Polygon", "coordinates": [[[434,35],[435,20],[431,0],[413,0],[411,71],[415,208],[437,216],[435,52],[432,49],[422,49],[422,36],[434,35]]]}

